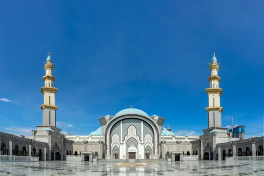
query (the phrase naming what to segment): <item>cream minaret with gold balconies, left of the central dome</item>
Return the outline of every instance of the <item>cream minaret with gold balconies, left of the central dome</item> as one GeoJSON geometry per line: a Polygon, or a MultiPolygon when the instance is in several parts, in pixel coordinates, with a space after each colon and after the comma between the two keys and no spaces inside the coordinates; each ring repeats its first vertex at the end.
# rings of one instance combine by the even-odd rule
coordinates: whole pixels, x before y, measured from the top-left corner
{"type": "Polygon", "coordinates": [[[44,94],[44,104],[41,105],[41,109],[43,110],[43,125],[56,127],[56,110],[58,107],[55,106],[55,93],[58,88],[53,87],[55,81],[55,77],[52,75],[53,69],[54,66],[48,52],[46,64],[44,65],[46,71],[45,76],[43,76],[44,87],[41,88],[41,92],[44,94]]]}

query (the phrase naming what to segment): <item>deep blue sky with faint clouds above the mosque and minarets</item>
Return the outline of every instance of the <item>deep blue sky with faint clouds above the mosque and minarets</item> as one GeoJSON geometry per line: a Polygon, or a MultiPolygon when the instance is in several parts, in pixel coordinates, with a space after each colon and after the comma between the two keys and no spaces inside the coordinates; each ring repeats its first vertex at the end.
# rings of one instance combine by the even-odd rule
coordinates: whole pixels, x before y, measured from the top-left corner
{"type": "Polygon", "coordinates": [[[87,135],[133,108],[176,135],[207,128],[208,66],[220,63],[222,127],[263,135],[262,0],[0,2],[0,131],[42,125],[44,62],[54,63],[57,127],[87,135]]]}

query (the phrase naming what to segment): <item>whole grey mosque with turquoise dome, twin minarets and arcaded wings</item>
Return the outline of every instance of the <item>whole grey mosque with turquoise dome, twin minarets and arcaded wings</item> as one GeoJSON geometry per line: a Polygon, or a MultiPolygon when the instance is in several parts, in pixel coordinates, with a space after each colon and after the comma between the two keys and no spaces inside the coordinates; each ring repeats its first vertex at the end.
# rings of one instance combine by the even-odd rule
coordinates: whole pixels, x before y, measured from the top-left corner
{"type": "Polygon", "coordinates": [[[158,159],[183,160],[186,155],[200,160],[224,160],[225,156],[263,155],[263,137],[234,138],[221,127],[219,65],[212,57],[208,77],[208,128],[200,136],[176,136],[163,127],[164,117],[148,115],[145,111],[128,108],[115,115],[99,118],[101,126],[89,135],[65,135],[56,127],[54,66],[48,54],[44,65],[43,124],[32,130],[32,136],[0,133],[1,155],[39,156],[40,160],[81,161],[93,159],[158,159]]]}

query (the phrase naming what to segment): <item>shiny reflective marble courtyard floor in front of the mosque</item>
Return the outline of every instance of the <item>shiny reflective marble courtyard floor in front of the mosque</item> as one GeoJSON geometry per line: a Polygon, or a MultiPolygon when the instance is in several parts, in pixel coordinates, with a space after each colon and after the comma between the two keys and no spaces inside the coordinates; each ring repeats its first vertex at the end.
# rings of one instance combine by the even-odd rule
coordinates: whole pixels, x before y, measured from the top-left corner
{"type": "Polygon", "coordinates": [[[149,161],[146,166],[118,162],[0,162],[0,176],[264,176],[264,162],[149,161]]]}

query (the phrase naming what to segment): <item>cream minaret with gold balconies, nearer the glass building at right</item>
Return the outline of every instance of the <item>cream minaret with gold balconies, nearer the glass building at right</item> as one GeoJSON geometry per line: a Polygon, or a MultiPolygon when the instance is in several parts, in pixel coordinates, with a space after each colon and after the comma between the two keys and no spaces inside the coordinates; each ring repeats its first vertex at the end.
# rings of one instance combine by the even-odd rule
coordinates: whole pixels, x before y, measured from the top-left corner
{"type": "Polygon", "coordinates": [[[209,69],[211,71],[211,76],[208,77],[210,88],[205,89],[209,100],[209,105],[205,108],[208,112],[208,128],[221,127],[221,113],[223,108],[220,107],[220,96],[222,95],[222,89],[219,88],[221,78],[218,76],[219,65],[215,53],[209,69]]]}

